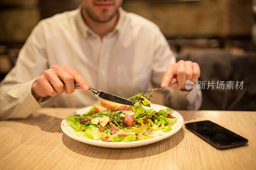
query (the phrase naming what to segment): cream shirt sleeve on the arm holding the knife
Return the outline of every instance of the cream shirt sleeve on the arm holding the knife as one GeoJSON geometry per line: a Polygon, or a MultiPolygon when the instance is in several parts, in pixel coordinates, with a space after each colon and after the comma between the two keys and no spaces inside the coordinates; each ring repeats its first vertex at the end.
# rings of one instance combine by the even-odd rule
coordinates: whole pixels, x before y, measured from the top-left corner
{"type": "Polygon", "coordinates": [[[45,39],[39,23],[21,48],[15,66],[0,84],[0,119],[26,118],[40,108],[31,87],[46,69],[45,39]]]}

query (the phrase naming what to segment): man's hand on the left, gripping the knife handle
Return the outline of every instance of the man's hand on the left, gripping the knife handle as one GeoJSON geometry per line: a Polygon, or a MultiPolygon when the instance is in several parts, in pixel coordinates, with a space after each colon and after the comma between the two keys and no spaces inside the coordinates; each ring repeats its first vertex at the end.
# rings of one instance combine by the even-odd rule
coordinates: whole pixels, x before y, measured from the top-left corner
{"type": "Polygon", "coordinates": [[[76,70],[68,65],[53,65],[37,78],[32,85],[31,92],[36,100],[40,97],[56,96],[63,92],[70,94],[75,91],[75,82],[83,91],[89,90],[86,81],[76,70]]]}

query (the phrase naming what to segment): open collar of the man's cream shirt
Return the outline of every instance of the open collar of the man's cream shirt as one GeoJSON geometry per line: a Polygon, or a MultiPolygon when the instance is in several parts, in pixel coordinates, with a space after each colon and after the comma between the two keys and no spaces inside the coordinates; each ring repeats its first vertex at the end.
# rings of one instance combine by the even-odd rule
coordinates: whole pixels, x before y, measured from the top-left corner
{"type": "MultiPolygon", "coordinates": [[[[92,35],[92,34],[95,34],[91,28],[89,26],[87,26],[84,22],[84,18],[82,16],[82,5],[80,4],[78,6],[78,9],[77,9],[77,12],[78,12],[78,15],[77,15],[77,26],[78,26],[78,29],[81,31],[82,35],[84,38],[87,38],[88,36],[92,35]]],[[[119,11],[119,17],[118,17],[118,20],[117,20],[117,23],[116,23],[116,26],[114,28],[114,30],[112,32],[110,32],[109,34],[113,35],[117,32],[121,32],[121,28],[122,28],[122,23],[123,23],[123,20],[124,20],[124,10],[122,9],[122,7],[119,7],[118,8],[118,11],[119,11]]]]}

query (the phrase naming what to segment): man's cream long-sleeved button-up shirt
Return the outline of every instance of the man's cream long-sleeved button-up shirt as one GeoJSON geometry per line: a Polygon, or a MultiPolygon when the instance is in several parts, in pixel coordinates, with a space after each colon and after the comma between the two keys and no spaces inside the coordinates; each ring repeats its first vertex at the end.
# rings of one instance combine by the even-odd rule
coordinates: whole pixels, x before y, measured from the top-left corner
{"type": "MultiPolygon", "coordinates": [[[[123,98],[144,92],[150,81],[159,87],[168,63],[176,62],[169,44],[151,21],[122,8],[119,14],[115,29],[102,39],[85,24],[80,8],[40,21],[1,82],[0,118],[27,117],[41,106],[85,107],[99,102],[92,92],[75,90],[38,103],[31,86],[54,64],[68,64],[89,86],[123,98]]],[[[196,88],[165,93],[168,106],[201,106],[202,94],[196,88]]]]}

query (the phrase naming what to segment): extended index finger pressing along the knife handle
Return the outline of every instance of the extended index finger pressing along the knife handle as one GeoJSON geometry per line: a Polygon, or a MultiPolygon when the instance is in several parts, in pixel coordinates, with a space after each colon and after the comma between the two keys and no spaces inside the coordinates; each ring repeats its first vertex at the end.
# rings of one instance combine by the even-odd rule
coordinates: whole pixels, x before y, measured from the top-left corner
{"type": "Polygon", "coordinates": [[[77,72],[76,70],[72,69],[70,66],[68,65],[63,65],[61,66],[63,69],[65,69],[69,74],[71,74],[74,78],[74,81],[80,86],[80,88],[83,91],[88,91],[89,87],[86,83],[86,81],[84,80],[84,78],[82,77],[82,75],[77,72]]]}

